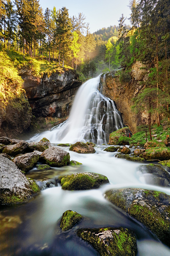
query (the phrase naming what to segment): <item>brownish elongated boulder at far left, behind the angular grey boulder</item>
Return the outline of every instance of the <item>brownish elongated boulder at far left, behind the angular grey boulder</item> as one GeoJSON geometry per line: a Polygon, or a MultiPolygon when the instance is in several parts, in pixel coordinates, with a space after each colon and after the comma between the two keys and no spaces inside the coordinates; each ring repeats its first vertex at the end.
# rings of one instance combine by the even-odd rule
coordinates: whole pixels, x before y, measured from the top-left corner
{"type": "Polygon", "coordinates": [[[3,149],[3,153],[6,153],[10,156],[17,156],[18,154],[24,153],[26,148],[28,148],[28,142],[21,140],[19,143],[14,145],[8,145],[3,149]]]}

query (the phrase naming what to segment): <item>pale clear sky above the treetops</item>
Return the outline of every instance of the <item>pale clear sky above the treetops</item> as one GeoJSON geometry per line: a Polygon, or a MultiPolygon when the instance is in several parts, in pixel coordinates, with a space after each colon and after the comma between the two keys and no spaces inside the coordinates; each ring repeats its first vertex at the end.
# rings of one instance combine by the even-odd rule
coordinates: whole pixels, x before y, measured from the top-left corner
{"type": "MultiPolygon", "coordinates": [[[[79,12],[83,12],[86,16],[86,23],[89,22],[90,32],[93,33],[100,28],[109,27],[110,25],[118,25],[118,20],[124,14],[124,17],[129,18],[130,9],[128,7],[129,0],[39,0],[39,4],[45,9],[56,10],[65,6],[69,9],[69,16],[78,16],[79,12]]],[[[126,24],[130,24],[129,20],[125,21],[126,24]]]]}

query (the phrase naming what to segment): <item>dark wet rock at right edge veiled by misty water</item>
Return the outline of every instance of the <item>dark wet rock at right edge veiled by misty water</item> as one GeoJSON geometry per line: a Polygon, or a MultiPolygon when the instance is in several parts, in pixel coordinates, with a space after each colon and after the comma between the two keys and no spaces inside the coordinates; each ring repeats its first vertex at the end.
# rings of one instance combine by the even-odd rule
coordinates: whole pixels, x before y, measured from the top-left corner
{"type": "Polygon", "coordinates": [[[143,174],[144,181],[147,184],[163,187],[168,187],[170,184],[170,175],[161,165],[140,165],[138,170],[141,174],[143,174]]]}

